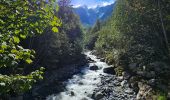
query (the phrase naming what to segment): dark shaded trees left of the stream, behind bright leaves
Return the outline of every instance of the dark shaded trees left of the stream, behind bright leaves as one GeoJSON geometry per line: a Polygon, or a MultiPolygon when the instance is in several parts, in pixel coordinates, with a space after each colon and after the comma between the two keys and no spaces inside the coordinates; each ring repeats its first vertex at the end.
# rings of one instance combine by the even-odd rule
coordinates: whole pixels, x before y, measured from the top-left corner
{"type": "MultiPolygon", "coordinates": [[[[60,0],[60,4],[67,1],[60,0]]],[[[83,34],[81,24],[78,16],[74,14],[73,8],[68,3],[66,4],[59,5],[60,9],[56,13],[58,16],[56,19],[60,19],[62,22],[58,29],[57,27],[47,28],[44,34],[30,39],[34,40],[31,44],[36,51],[38,65],[44,66],[47,72],[59,69],[66,64],[77,63],[83,57],[81,55],[83,34]]],[[[52,21],[50,24],[58,25],[56,21],[52,21]]],[[[29,44],[29,42],[27,43],[29,44]]]]}

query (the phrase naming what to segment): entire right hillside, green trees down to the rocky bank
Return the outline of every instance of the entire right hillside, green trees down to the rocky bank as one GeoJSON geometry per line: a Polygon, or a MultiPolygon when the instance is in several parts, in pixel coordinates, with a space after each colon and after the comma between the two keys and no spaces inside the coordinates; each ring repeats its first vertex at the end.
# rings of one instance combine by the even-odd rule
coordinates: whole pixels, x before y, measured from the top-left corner
{"type": "Polygon", "coordinates": [[[92,29],[95,53],[114,65],[117,75],[131,75],[140,100],[163,98],[169,91],[169,16],[169,0],[118,0],[112,17],[92,29]]]}

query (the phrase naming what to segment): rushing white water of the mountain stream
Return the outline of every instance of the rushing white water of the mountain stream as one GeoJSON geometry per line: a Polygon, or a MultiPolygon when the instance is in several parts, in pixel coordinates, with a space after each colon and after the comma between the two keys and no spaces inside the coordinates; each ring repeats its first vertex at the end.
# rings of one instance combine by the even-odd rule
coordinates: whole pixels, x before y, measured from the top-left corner
{"type": "Polygon", "coordinates": [[[91,52],[86,52],[85,55],[94,60],[94,63],[89,65],[97,65],[99,70],[92,71],[89,67],[85,67],[81,74],[74,75],[72,79],[66,82],[66,90],[56,95],[47,97],[47,100],[83,100],[88,99],[89,94],[93,94],[93,90],[97,88],[97,83],[100,83],[100,74],[103,73],[103,68],[109,67],[105,62],[101,62],[96,56],[92,55],[91,52]]]}

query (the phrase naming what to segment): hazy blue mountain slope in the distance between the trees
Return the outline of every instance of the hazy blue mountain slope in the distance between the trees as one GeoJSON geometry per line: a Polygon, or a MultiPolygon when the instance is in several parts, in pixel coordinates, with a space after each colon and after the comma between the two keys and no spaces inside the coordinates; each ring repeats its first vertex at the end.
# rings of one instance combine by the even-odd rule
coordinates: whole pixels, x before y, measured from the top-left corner
{"type": "Polygon", "coordinates": [[[97,19],[105,20],[111,16],[115,3],[103,7],[87,8],[87,6],[80,6],[74,8],[74,12],[80,16],[83,25],[94,25],[97,19]]]}

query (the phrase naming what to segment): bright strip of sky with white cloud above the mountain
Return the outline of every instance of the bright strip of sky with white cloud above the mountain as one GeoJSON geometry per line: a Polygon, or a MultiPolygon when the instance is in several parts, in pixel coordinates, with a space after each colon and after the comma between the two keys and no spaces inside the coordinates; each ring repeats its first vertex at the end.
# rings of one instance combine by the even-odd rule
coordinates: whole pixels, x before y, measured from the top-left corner
{"type": "Polygon", "coordinates": [[[72,0],[74,7],[86,5],[89,8],[96,6],[105,6],[114,3],[115,0],[72,0]]]}

